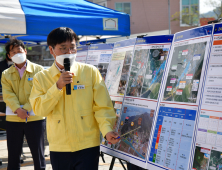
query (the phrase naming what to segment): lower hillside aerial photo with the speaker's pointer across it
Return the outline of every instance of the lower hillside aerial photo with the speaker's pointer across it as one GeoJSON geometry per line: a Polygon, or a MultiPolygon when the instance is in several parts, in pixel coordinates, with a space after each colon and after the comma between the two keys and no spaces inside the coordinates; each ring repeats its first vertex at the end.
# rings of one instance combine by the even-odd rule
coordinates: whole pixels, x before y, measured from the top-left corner
{"type": "Polygon", "coordinates": [[[114,148],[145,159],[151,133],[154,110],[123,105],[118,133],[121,137],[114,148]]]}

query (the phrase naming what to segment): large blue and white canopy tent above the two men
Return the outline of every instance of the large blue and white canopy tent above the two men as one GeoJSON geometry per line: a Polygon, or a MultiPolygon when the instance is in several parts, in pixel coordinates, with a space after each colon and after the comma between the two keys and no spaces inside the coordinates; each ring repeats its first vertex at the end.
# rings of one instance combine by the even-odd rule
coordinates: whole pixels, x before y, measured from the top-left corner
{"type": "Polygon", "coordinates": [[[84,36],[130,35],[128,14],[86,0],[1,0],[0,23],[4,36],[47,36],[57,27],[70,27],[84,36]]]}

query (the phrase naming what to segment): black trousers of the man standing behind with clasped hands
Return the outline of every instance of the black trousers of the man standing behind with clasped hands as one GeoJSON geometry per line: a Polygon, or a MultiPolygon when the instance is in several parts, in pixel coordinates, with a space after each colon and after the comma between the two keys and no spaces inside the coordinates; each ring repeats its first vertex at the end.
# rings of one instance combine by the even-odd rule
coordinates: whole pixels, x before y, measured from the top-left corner
{"type": "Polygon", "coordinates": [[[35,170],[45,169],[44,133],[45,120],[33,122],[6,122],[8,170],[20,169],[24,135],[32,153],[35,170]]]}

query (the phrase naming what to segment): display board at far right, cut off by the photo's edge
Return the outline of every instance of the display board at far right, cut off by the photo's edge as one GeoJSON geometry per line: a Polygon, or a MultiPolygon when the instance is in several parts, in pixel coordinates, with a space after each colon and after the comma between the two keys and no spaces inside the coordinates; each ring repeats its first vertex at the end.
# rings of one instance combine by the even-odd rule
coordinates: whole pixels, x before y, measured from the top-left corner
{"type": "Polygon", "coordinates": [[[214,27],[193,169],[222,169],[222,24],[214,27]]]}

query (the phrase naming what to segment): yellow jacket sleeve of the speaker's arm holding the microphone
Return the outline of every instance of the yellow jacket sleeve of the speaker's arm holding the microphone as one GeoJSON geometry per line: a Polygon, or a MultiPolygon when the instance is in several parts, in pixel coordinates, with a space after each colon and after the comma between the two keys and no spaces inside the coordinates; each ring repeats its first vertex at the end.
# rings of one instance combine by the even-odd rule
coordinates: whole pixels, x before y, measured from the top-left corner
{"type": "Polygon", "coordinates": [[[29,100],[34,113],[46,117],[52,112],[62,95],[63,91],[58,90],[56,83],[44,92],[35,76],[29,100]]]}

